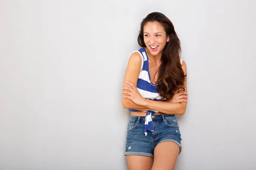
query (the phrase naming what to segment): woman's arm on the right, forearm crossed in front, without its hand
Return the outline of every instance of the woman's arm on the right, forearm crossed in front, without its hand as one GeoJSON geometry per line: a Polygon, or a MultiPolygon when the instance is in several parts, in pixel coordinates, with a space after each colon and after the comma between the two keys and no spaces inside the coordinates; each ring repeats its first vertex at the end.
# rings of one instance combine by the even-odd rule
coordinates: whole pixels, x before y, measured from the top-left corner
{"type": "MultiPolygon", "coordinates": [[[[186,75],[186,63],[182,62],[182,69],[184,74],[186,75]]],[[[186,85],[187,77],[184,79],[184,88],[187,88],[186,85]]],[[[151,110],[160,111],[166,114],[178,114],[183,115],[186,111],[187,102],[179,102],[179,103],[172,103],[166,101],[153,101],[145,99],[145,104],[143,106],[151,108],[151,110]]]]}

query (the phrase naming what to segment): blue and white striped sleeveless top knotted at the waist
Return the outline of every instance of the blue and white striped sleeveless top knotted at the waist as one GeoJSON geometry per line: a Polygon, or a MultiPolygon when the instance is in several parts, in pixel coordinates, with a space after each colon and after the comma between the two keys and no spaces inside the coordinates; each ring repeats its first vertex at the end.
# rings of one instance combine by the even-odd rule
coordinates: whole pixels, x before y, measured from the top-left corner
{"type": "MultiPolygon", "coordinates": [[[[153,84],[150,81],[150,73],[148,69],[148,55],[146,53],[145,47],[140,48],[134,52],[138,52],[142,58],[140,74],[137,81],[137,90],[139,91],[140,95],[145,99],[150,99],[155,101],[166,100],[165,98],[162,98],[158,94],[157,84],[153,84]]],[[[183,59],[180,59],[180,64],[182,64],[182,61],[183,59]]],[[[138,112],[138,110],[135,110],[135,109],[129,109],[129,111],[138,112]]],[[[145,136],[147,136],[147,130],[154,131],[151,114],[157,113],[159,111],[144,111],[144,112],[147,113],[145,118],[145,128],[144,128],[145,136]]]]}

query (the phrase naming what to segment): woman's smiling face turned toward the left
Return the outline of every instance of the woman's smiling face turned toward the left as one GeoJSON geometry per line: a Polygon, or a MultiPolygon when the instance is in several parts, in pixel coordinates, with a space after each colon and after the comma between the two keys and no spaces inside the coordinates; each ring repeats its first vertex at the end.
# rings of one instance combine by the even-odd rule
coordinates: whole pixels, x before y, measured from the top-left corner
{"type": "Polygon", "coordinates": [[[143,27],[144,42],[151,55],[163,53],[166,42],[169,42],[169,36],[166,36],[162,24],[158,22],[148,22],[143,27]]]}

